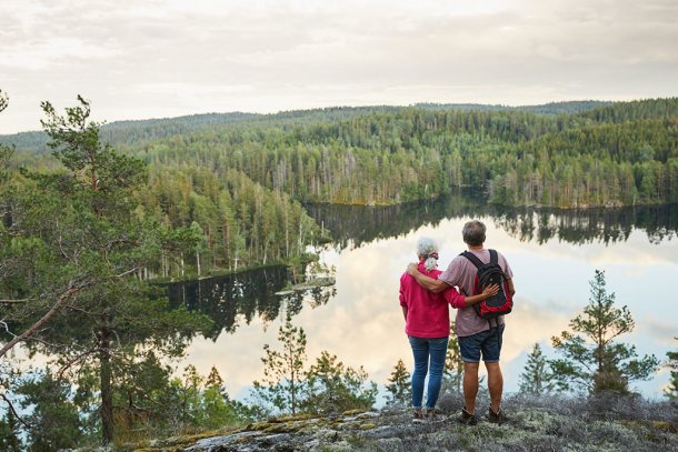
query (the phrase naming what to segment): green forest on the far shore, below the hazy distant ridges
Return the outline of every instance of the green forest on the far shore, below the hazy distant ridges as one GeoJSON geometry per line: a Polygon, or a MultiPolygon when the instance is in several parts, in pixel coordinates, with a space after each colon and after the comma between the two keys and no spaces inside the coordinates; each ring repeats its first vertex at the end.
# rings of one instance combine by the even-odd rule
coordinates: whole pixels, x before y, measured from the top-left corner
{"type": "Polygon", "coordinates": [[[209,162],[218,172],[237,170],[311,202],[395,203],[466,185],[487,189],[503,204],[672,202],[677,104],[630,103],[624,107],[629,120],[617,122],[515,110],[396,109],[293,127],[240,123],[143,151],[153,168],[209,162]],[[630,113],[636,110],[646,113],[630,113]]]}

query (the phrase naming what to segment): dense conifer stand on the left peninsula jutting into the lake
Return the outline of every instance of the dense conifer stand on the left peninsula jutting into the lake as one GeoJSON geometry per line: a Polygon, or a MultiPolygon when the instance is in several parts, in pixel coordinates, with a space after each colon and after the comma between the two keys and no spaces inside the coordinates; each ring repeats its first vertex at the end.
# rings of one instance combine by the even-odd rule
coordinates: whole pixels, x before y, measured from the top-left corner
{"type": "Polygon", "coordinates": [[[143,211],[171,228],[192,227],[198,243],[172,264],[162,257],[151,274],[210,274],[303,255],[319,228],[299,202],[230,168],[212,170],[180,162],[154,164],[143,211]]]}

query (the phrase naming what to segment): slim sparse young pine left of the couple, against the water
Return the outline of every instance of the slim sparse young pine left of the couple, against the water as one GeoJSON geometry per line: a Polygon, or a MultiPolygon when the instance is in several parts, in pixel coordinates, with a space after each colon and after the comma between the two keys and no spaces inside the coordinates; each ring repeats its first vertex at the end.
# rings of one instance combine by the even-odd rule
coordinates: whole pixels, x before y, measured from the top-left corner
{"type": "Polygon", "coordinates": [[[278,330],[278,341],[282,351],[263,345],[263,380],[252,383],[252,395],[262,408],[272,405],[273,410],[295,414],[303,394],[306,333],[302,328],[292,325],[292,319],[287,315],[278,330]]]}

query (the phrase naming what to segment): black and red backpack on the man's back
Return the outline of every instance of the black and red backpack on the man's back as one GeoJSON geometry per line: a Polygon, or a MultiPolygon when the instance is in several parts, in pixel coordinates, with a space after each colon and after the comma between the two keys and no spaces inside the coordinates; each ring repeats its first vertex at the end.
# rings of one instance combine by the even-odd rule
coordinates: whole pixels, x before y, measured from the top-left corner
{"type": "Polygon", "coordinates": [[[514,299],[509,292],[508,281],[506,280],[503,270],[499,267],[497,251],[489,250],[489,263],[482,263],[476,254],[469,251],[459,254],[471,261],[478,269],[476,282],[473,283],[473,295],[481,293],[488,285],[499,284],[499,292],[480,303],[473,304],[473,309],[476,309],[476,312],[482,319],[495,319],[499,315],[508,314],[514,309],[514,299]]]}

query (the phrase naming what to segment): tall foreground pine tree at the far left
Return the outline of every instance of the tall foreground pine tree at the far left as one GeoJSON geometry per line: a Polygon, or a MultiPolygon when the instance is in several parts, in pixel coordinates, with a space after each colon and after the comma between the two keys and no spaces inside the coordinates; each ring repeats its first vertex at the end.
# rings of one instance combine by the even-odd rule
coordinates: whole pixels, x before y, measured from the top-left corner
{"type": "Polygon", "coordinates": [[[11,240],[0,243],[0,252],[13,265],[3,272],[1,289],[30,300],[11,305],[13,327],[26,330],[19,338],[38,339],[31,351],[51,356],[51,364],[79,384],[90,430],[109,443],[117,418],[134,424],[134,403],[146,400],[131,375],[156,359],[153,353],[179,356],[210,323],[185,309],[169,311],[143,279],[163,252],[190,249],[190,231],[139,212],[146,165],[102,144],[100,125],[88,122],[89,103],[78,100],[64,115],[42,103],[42,124],[63,168],[24,171],[23,183],[6,197],[11,223],[4,231],[11,240]],[[117,404],[122,394],[126,403],[117,404]]]}

